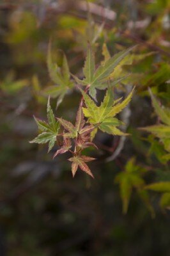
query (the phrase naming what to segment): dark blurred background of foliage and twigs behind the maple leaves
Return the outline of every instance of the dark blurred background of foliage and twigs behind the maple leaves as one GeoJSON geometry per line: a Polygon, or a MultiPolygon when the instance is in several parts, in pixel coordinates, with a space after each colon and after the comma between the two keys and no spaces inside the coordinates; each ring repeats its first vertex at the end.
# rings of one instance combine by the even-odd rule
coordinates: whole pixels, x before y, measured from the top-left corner
{"type": "MultiPolygon", "coordinates": [[[[130,157],[148,171],[146,182],[170,180],[168,164],[159,161],[161,145],[137,129],[156,122],[149,86],[164,104],[170,99],[169,12],[169,0],[0,1],[1,256],[170,255],[169,210],[161,211],[157,193],[150,194],[155,218],[135,191],[124,215],[114,182],[130,157]],[[99,133],[99,150],[89,149],[98,159],[90,164],[95,180],[81,171],[72,179],[67,155],[52,161],[57,146],[47,154],[47,147],[29,143],[37,134],[33,115],[46,118],[42,91],[52,85],[46,61],[50,38],[52,52],[62,49],[79,77],[87,41],[97,47],[97,61],[104,42],[111,54],[135,44],[138,54],[153,52],[132,65],[137,85],[127,120],[132,136],[114,161],[106,159],[119,138],[99,133]]],[[[70,90],[55,114],[74,122],[79,100],[79,92],[70,90]]],[[[55,109],[56,99],[51,104],[55,109]]]]}

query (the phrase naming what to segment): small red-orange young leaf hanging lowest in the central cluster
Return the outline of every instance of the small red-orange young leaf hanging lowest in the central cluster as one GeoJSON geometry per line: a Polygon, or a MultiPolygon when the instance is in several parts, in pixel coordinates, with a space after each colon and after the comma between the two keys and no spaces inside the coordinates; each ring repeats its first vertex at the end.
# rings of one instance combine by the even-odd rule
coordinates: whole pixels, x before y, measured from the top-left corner
{"type": "Polygon", "coordinates": [[[75,173],[77,172],[77,168],[81,168],[83,172],[88,173],[93,179],[93,173],[89,169],[88,165],[85,162],[93,161],[95,158],[88,157],[88,156],[73,156],[68,159],[68,161],[72,162],[72,175],[74,177],[75,173]]]}

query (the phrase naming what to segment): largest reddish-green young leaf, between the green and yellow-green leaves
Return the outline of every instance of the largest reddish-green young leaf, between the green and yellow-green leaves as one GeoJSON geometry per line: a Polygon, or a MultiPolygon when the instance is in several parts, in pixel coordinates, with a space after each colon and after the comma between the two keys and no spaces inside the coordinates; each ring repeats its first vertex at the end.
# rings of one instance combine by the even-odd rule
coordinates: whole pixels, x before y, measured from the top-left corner
{"type": "Polygon", "coordinates": [[[66,129],[65,136],[68,136],[69,138],[77,138],[80,136],[82,139],[86,138],[90,132],[95,129],[95,126],[90,124],[90,125],[85,125],[85,120],[84,120],[84,115],[82,113],[82,108],[79,107],[79,110],[77,111],[77,116],[75,120],[75,126],[63,118],[58,118],[59,123],[66,129]]]}

